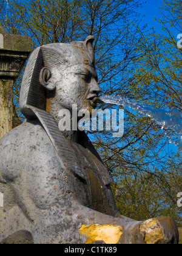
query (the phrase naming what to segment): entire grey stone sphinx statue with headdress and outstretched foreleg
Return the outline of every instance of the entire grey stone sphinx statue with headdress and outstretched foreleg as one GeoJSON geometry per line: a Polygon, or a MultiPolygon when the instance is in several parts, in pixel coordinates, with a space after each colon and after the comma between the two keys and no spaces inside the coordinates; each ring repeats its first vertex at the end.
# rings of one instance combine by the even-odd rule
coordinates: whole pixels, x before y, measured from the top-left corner
{"type": "Polygon", "coordinates": [[[92,36],[33,51],[21,86],[26,121],[0,141],[0,243],[178,243],[171,218],[121,216],[87,137],[61,132],[59,110],[92,112],[101,92],[92,36]]]}

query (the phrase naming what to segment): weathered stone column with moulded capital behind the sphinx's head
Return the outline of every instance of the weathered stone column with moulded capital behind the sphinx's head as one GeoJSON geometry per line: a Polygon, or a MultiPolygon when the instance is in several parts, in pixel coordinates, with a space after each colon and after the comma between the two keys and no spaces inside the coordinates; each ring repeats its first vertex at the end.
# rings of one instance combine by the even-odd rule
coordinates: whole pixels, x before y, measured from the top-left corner
{"type": "Polygon", "coordinates": [[[10,35],[0,23],[0,139],[12,129],[13,84],[30,51],[30,37],[10,35]]]}

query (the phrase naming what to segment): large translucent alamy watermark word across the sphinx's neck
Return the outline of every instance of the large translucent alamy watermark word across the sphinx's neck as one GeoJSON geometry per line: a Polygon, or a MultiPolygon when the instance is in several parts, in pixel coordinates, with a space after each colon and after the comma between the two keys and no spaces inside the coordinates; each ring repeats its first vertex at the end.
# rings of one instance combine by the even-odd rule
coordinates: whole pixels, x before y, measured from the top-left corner
{"type": "Polygon", "coordinates": [[[76,104],[72,105],[72,113],[68,109],[61,109],[58,113],[60,118],[59,130],[64,131],[112,131],[114,138],[121,138],[124,134],[124,110],[105,109],[78,111],[76,104]]]}

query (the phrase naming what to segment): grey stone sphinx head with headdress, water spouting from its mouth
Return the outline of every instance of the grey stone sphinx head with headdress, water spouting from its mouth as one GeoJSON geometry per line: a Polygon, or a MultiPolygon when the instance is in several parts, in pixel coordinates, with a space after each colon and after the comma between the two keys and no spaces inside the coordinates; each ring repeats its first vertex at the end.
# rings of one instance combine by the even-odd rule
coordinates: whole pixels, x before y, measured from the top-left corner
{"type": "Polygon", "coordinates": [[[92,112],[101,92],[97,82],[92,43],[53,43],[36,48],[30,56],[21,85],[20,108],[26,118],[34,118],[32,107],[50,112],[56,108],[92,112]]]}

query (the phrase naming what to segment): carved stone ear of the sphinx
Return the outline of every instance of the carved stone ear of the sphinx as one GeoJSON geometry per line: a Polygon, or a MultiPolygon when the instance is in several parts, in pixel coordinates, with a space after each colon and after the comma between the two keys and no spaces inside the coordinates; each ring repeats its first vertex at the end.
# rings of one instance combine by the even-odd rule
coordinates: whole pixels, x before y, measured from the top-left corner
{"type": "Polygon", "coordinates": [[[52,82],[52,73],[49,68],[42,68],[39,75],[40,84],[48,91],[53,91],[56,85],[52,82]]]}

